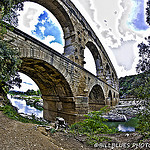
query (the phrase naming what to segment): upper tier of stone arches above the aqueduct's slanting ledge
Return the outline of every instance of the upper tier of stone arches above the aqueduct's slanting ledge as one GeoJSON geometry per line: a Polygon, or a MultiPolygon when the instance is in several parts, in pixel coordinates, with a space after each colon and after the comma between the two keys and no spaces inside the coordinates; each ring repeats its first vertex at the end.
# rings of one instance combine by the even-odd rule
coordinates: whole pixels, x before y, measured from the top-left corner
{"type": "MultiPolygon", "coordinates": [[[[87,47],[94,60],[96,76],[114,88],[118,88],[116,71],[101,42],[70,0],[30,0],[50,11],[58,20],[64,34],[66,57],[84,67],[87,47]]],[[[91,60],[89,60],[91,61],[91,60]]]]}

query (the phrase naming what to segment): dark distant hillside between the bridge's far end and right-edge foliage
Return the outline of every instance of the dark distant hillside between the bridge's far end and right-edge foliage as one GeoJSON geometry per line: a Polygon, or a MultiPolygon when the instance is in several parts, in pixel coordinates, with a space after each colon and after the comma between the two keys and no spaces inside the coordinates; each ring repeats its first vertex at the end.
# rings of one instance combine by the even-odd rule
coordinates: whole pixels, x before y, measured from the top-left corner
{"type": "MultiPolygon", "coordinates": [[[[138,75],[131,75],[119,78],[119,94],[120,98],[128,97],[130,95],[130,90],[132,84],[135,80],[138,80],[139,83],[142,83],[142,80],[146,77],[146,73],[141,73],[138,75]]],[[[148,72],[148,76],[150,76],[150,72],[148,72]]],[[[137,85],[138,86],[138,85],[137,85]]],[[[135,95],[132,95],[135,96],[135,95]]]]}

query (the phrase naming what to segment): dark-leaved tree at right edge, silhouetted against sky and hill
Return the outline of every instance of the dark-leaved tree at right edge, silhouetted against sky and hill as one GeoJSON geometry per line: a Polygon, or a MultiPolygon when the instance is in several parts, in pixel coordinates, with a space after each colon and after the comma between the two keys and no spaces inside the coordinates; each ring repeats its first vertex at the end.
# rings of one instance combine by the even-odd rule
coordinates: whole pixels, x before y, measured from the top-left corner
{"type": "MultiPolygon", "coordinates": [[[[146,22],[150,25],[150,0],[147,2],[146,22]]],[[[146,76],[142,80],[135,80],[132,84],[133,92],[142,99],[150,98],[150,36],[145,40],[138,45],[140,59],[136,70],[138,73],[144,72],[146,76]]]]}

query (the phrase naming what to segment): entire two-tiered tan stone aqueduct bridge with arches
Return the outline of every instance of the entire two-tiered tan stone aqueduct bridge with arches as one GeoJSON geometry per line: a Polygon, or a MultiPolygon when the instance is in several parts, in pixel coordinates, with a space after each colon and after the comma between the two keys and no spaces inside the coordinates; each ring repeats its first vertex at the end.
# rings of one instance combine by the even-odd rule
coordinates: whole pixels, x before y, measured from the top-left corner
{"type": "MultiPolygon", "coordinates": [[[[24,32],[6,35],[21,53],[20,72],[39,86],[44,100],[44,118],[64,117],[69,123],[83,114],[118,103],[116,71],[96,34],[70,0],[31,0],[47,8],[64,32],[64,54],[60,54],[24,32]],[[95,60],[97,75],[84,69],[84,49],[95,60]]],[[[90,60],[89,60],[90,61],[90,60]]]]}

